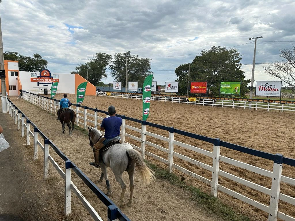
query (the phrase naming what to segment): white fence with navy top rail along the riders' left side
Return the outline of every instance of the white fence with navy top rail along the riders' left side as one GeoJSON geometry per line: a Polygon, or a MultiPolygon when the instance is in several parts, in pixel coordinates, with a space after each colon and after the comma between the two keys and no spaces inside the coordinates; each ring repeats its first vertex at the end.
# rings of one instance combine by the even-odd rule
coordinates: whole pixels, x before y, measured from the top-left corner
{"type": "MultiPolygon", "coordinates": [[[[23,92],[24,93],[24,92],[23,92]]],[[[24,96],[25,97],[25,96],[24,96]]],[[[48,102],[48,100],[43,99],[37,99],[40,100],[39,104],[42,106],[42,108],[47,107],[47,110],[49,110],[49,104],[52,104],[52,102],[48,102]]],[[[35,95],[30,98],[30,102],[35,103],[35,95]]],[[[107,207],[107,217],[108,220],[122,220],[122,221],[130,221],[130,219],[124,215],[124,213],[73,163],[69,160],[65,154],[63,154],[60,149],[58,149],[55,144],[50,141],[47,136],[40,131],[37,126],[27,117],[25,116],[21,110],[19,110],[11,100],[8,99],[8,107],[9,107],[9,113],[11,114],[11,117],[15,120],[14,124],[18,125],[18,130],[22,131],[22,137],[25,136],[25,130],[27,134],[27,145],[30,145],[31,140],[33,139],[34,142],[34,160],[38,159],[38,146],[41,148],[41,150],[44,152],[44,164],[43,164],[43,171],[44,171],[44,179],[47,179],[49,177],[49,162],[53,165],[53,167],[58,171],[60,176],[65,180],[65,204],[64,204],[64,213],[65,215],[71,214],[71,190],[76,194],[76,196],[80,199],[86,210],[89,212],[89,214],[93,217],[95,221],[102,221],[99,214],[96,212],[96,210],[91,206],[91,204],[87,201],[87,199],[83,196],[83,194],[79,191],[79,189],[76,187],[76,185],[71,180],[71,171],[74,171],[80,178],[83,180],[83,182],[91,189],[94,194],[103,202],[107,207]],[[34,128],[33,131],[31,131],[31,127],[34,128]],[[40,135],[44,143],[39,140],[40,135]],[[58,156],[65,161],[65,171],[63,171],[60,166],[56,163],[56,161],[53,159],[52,156],[49,154],[49,146],[52,147],[52,149],[58,154],[58,156]]],[[[52,110],[52,106],[50,108],[52,110]]]]}

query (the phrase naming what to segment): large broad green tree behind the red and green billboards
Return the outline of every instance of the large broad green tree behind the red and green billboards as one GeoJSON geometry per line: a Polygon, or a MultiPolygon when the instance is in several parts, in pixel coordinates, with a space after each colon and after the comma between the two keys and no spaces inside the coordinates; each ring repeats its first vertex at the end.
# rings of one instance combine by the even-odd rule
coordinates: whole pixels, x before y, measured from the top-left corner
{"type": "MultiPolygon", "coordinates": [[[[241,70],[241,56],[237,49],[227,50],[221,46],[203,50],[191,63],[189,82],[207,81],[207,93],[211,91],[213,95],[218,96],[221,81],[241,81],[241,96],[245,96],[250,79],[245,80],[241,70]]],[[[187,92],[188,71],[189,64],[175,69],[180,94],[187,92]]]]}

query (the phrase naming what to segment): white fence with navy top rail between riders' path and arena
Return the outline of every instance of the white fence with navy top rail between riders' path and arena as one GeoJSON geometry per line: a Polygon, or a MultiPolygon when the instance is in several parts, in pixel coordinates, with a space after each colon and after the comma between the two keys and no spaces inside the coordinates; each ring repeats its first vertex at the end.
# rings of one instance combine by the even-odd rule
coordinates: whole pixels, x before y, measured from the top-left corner
{"type": "MultiPolygon", "coordinates": [[[[51,113],[54,113],[54,114],[56,113],[56,110],[59,107],[59,104],[58,104],[59,100],[51,99],[48,97],[46,98],[44,96],[40,96],[40,95],[33,94],[30,92],[23,93],[23,98],[25,100],[29,101],[30,103],[40,106],[42,109],[50,111],[51,113]]],[[[83,125],[84,129],[86,129],[87,126],[92,127],[91,125],[88,125],[87,123],[91,123],[92,125],[98,125],[98,126],[101,125],[100,123],[98,123],[98,120],[102,121],[104,118],[99,117],[97,113],[104,113],[104,114],[106,114],[106,116],[108,114],[108,112],[103,111],[103,110],[98,110],[97,108],[90,108],[87,106],[82,106],[82,105],[77,105],[77,104],[72,104],[72,105],[76,106],[76,110],[74,109],[76,111],[76,115],[77,115],[76,124],[83,125]],[[82,108],[83,111],[81,111],[79,108],[82,108]],[[94,114],[88,113],[87,110],[94,111],[94,114]]],[[[151,156],[154,159],[157,159],[158,161],[167,164],[168,165],[167,169],[171,173],[172,173],[172,169],[175,168],[175,169],[183,172],[184,174],[187,174],[191,177],[194,177],[194,178],[208,184],[209,186],[211,186],[211,195],[214,197],[217,196],[217,191],[219,190],[219,191],[222,191],[232,197],[240,199],[241,201],[246,202],[246,203],[248,203],[260,210],[263,210],[264,212],[268,213],[268,220],[269,221],[275,221],[275,220],[277,220],[277,217],[281,218],[282,220],[286,220],[286,221],[290,221],[290,220],[295,221],[295,217],[292,217],[290,215],[287,215],[283,212],[278,211],[279,200],[282,200],[284,202],[287,202],[287,203],[295,206],[295,198],[294,197],[280,193],[281,182],[284,182],[286,184],[289,184],[289,185],[295,187],[295,179],[282,175],[283,164],[295,167],[295,159],[284,157],[282,154],[270,154],[270,153],[266,153],[263,151],[258,151],[258,150],[250,149],[250,148],[243,147],[240,145],[232,144],[229,142],[221,141],[218,138],[214,139],[214,138],[210,138],[210,137],[206,137],[206,136],[201,136],[198,134],[189,133],[186,131],[181,131],[181,130],[175,129],[173,127],[162,126],[162,125],[158,125],[158,124],[147,122],[147,121],[141,121],[139,119],[126,117],[124,115],[117,114],[116,116],[119,116],[122,118],[122,130],[121,130],[122,142],[125,142],[125,137],[129,137],[132,140],[141,142],[140,147],[135,146],[134,144],[131,144],[131,145],[135,149],[137,149],[138,151],[141,152],[143,158],[145,158],[145,155],[151,156]],[[133,121],[133,122],[141,123],[141,129],[127,125],[126,121],[133,121]],[[168,131],[169,137],[160,136],[158,134],[148,132],[148,131],[146,131],[146,126],[151,126],[154,128],[164,130],[164,131],[168,131]],[[126,128],[130,129],[132,131],[141,133],[141,137],[136,137],[132,134],[126,133],[125,132],[126,128]],[[205,141],[207,143],[213,144],[213,152],[176,141],[174,139],[175,133],[183,135],[183,136],[187,136],[189,138],[194,138],[197,140],[201,140],[201,141],[205,141]],[[149,142],[147,139],[147,136],[157,138],[157,139],[167,142],[168,149],[164,148],[162,146],[159,146],[158,144],[154,144],[152,142],[149,142]],[[146,149],[145,149],[146,145],[152,146],[160,151],[167,153],[168,159],[164,159],[164,158],[157,156],[149,151],[146,151],[146,149]],[[194,151],[196,153],[203,154],[205,156],[209,156],[210,158],[213,159],[212,166],[210,166],[208,164],[204,164],[200,161],[197,161],[195,159],[191,159],[185,155],[175,152],[174,146],[180,146],[182,148],[189,149],[189,150],[194,151]],[[262,168],[259,168],[256,166],[252,166],[250,164],[246,164],[246,163],[222,156],[219,154],[221,146],[228,148],[228,149],[240,151],[242,153],[250,154],[252,156],[257,156],[262,159],[271,160],[271,161],[273,161],[273,171],[268,171],[268,170],[265,170],[265,169],[262,169],[262,168]],[[205,177],[202,177],[199,174],[196,174],[192,171],[189,171],[188,169],[183,168],[182,166],[179,166],[179,165],[173,163],[173,156],[212,172],[212,179],[209,180],[205,177]],[[237,176],[227,173],[225,171],[222,171],[221,169],[219,169],[219,162],[220,161],[225,162],[227,164],[231,164],[233,166],[243,168],[243,169],[247,169],[248,171],[252,171],[256,174],[260,174],[262,176],[271,178],[272,179],[271,189],[261,186],[259,184],[250,182],[250,181],[243,179],[241,177],[237,177],[237,176]],[[230,179],[234,182],[238,182],[242,185],[245,185],[245,186],[250,187],[252,189],[258,190],[264,194],[267,194],[270,197],[270,204],[265,205],[263,203],[260,203],[254,199],[246,197],[238,192],[235,192],[231,189],[228,189],[228,188],[220,185],[218,183],[219,176],[225,177],[225,178],[230,179]]]]}

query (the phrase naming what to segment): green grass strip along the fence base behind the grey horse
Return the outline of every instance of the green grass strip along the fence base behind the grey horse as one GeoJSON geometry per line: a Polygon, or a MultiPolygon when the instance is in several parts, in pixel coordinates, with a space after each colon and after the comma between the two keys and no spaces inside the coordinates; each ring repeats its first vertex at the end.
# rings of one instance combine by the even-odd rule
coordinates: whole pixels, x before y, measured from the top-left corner
{"type": "Polygon", "coordinates": [[[208,213],[217,215],[218,217],[221,217],[223,220],[250,221],[248,217],[234,211],[231,207],[222,203],[218,198],[212,197],[211,195],[202,192],[200,189],[196,187],[187,185],[184,181],[181,181],[178,176],[169,173],[168,170],[159,169],[156,165],[151,164],[148,161],[145,162],[156,173],[156,177],[158,179],[166,180],[171,184],[177,187],[184,188],[185,191],[190,192],[193,195],[191,200],[196,202],[208,213]]]}

